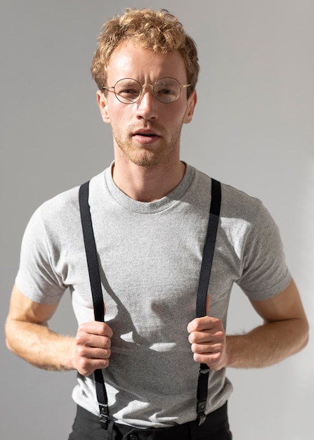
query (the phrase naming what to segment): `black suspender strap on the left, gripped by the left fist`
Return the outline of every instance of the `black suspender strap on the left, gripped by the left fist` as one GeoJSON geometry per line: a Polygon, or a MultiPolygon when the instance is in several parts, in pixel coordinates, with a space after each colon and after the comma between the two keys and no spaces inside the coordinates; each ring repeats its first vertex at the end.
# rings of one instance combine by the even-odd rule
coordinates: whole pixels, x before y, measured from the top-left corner
{"type": "MultiPolygon", "coordinates": [[[[91,212],[89,210],[89,182],[84,183],[79,188],[79,209],[81,212],[81,227],[84,235],[87,266],[89,268],[89,281],[91,283],[94,316],[96,321],[103,322],[105,318],[105,309],[103,302],[103,291],[100,283],[96,242],[93,235],[91,212]]],[[[97,400],[100,410],[100,423],[103,428],[107,429],[109,422],[109,408],[102,370],[95,370],[94,376],[96,382],[97,400]]]]}

